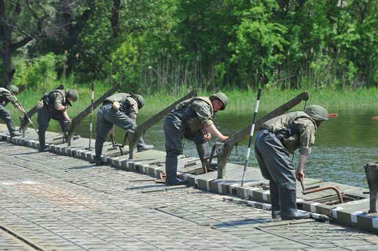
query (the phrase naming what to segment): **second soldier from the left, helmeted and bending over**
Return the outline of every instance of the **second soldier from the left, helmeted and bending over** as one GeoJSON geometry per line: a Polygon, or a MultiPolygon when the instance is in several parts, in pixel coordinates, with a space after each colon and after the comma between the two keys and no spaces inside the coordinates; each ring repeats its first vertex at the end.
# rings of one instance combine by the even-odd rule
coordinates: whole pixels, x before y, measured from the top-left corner
{"type": "Polygon", "coordinates": [[[54,119],[60,123],[63,134],[66,132],[66,124],[71,122],[67,114],[67,108],[71,106],[71,101],[78,101],[78,92],[76,90],[54,90],[45,93],[38,102],[38,139],[39,152],[48,152],[46,147],[45,134],[49,127],[49,121],[54,119]]]}

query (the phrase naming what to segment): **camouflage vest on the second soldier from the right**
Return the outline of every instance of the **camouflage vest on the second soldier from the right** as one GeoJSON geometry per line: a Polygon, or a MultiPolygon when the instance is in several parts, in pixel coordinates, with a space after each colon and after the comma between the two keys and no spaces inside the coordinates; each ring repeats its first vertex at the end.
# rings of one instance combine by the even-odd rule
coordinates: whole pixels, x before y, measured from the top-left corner
{"type": "Polygon", "coordinates": [[[181,114],[181,117],[186,121],[186,125],[192,132],[197,132],[203,128],[203,124],[197,117],[196,111],[192,107],[192,103],[197,100],[205,101],[205,103],[210,106],[211,117],[213,119],[214,109],[212,108],[212,102],[208,97],[192,97],[182,101],[175,107],[175,110],[180,111],[179,113],[181,114]]]}

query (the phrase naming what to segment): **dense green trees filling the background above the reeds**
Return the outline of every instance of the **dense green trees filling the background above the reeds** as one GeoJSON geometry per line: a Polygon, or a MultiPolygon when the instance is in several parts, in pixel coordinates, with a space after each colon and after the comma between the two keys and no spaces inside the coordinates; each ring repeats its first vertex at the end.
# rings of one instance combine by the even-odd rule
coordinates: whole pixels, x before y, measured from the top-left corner
{"type": "Polygon", "coordinates": [[[378,0],[0,0],[2,86],[378,87],[378,0]]]}

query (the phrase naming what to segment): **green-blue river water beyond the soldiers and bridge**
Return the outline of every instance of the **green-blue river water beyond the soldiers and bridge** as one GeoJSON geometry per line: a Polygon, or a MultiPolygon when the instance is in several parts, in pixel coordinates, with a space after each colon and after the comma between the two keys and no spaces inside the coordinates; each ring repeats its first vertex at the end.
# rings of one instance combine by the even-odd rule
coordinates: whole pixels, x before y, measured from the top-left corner
{"type": "MultiPolygon", "coordinates": [[[[259,111],[262,117],[268,111],[259,111]]],[[[378,116],[378,108],[364,110],[329,110],[337,112],[338,117],[331,117],[319,128],[312,154],[304,167],[304,173],[309,178],[348,184],[355,187],[367,187],[364,165],[378,162],[378,121],[372,117],[378,116]]],[[[137,123],[142,123],[154,114],[141,110],[137,123]]],[[[231,135],[252,123],[253,109],[250,112],[232,114],[221,111],[216,115],[215,124],[225,135],[231,135]]],[[[53,124],[50,131],[58,131],[58,125],[53,124]]],[[[93,130],[96,132],[96,112],[93,118],[93,130]]],[[[93,132],[93,139],[95,138],[93,132]]],[[[82,121],[78,134],[89,137],[89,116],[82,121]]],[[[116,130],[115,141],[121,143],[124,131],[116,130]]],[[[216,141],[210,141],[210,147],[216,141]]],[[[254,142],[254,141],[252,141],[254,142]]],[[[156,150],[164,151],[163,120],[148,130],[146,143],[155,145],[156,150]]],[[[229,161],[244,165],[247,151],[247,139],[238,144],[238,155],[233,150],[229,161]]],[[[253,145],[252,145],[253,147],[253,145]]],[[[198,156],[194,143],[186,141],[184,154],[198,156]]],[[[294,154],[294,163],[298,164],[298,151],[294,154]]],[[[254,152],[249,156],[249,167],[258,168],[254,152]]],[[[242,174],[241,169],[241,174],[242,174]]]]}

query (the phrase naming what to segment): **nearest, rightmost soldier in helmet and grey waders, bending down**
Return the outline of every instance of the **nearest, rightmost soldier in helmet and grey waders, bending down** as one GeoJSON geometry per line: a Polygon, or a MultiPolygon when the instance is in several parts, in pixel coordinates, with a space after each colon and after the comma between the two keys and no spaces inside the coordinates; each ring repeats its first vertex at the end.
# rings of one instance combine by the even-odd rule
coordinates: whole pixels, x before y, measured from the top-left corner
{"type": "Polygon", "coordinates": [[[269,180],[273,219],[304,219],[310,216],[297,210],[296,178],[305,178],[304,163],[311,153],[318,128],[328,117],[325,108],[312,105],[304,112],[289,112],[261,126],[254,148],[261,174],[269,180]],[[298,148],[300,158],[295,169],[289,154],[298,148]]]}

